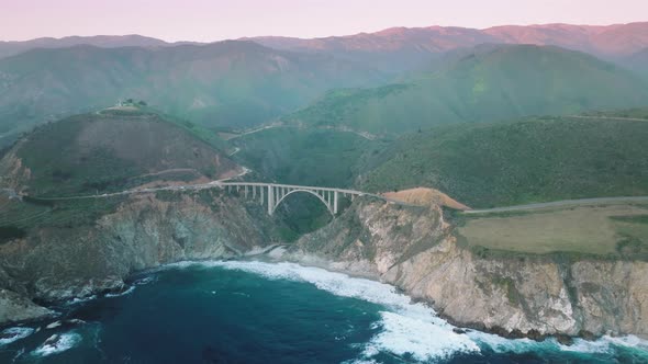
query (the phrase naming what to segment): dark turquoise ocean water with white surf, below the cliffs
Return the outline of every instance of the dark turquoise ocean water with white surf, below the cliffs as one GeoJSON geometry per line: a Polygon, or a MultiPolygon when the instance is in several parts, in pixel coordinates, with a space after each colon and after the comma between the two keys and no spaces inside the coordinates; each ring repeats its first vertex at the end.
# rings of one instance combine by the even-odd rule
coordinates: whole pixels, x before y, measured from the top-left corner
{"type": "Polygon", "coordinates": [[[634,337],[456,333],[391,286],[292,263],[175,264],[59,310],[5,329],[0,363],[648,363],[634,337]]]}

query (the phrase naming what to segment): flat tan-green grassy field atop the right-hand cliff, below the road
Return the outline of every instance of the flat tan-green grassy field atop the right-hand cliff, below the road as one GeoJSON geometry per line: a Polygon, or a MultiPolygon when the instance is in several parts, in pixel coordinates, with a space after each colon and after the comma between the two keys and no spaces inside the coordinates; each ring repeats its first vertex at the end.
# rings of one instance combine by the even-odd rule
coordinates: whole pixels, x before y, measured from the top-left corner
{"type": "Polygon", "coordinates": [[[648,260],[648,205],[602,205],[465,216],[459,241],[478,253],[567,252],[648,260]],[[487,250],[483,250],[487,249],[487,250]]]}

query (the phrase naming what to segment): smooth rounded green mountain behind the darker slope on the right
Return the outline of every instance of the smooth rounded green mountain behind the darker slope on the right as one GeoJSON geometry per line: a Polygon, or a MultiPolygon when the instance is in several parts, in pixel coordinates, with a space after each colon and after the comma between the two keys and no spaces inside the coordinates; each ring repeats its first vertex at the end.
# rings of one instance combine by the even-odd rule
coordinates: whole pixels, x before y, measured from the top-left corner
{"type": "Polygon", "coordinates": [[[284,120],[403,134],[440,124],[574,114],[648,103],[645,81],[582,53],[490,45],[458,55],[448,57],[440,70],[411,76],[400,84],[329,92],[284,120]]]}

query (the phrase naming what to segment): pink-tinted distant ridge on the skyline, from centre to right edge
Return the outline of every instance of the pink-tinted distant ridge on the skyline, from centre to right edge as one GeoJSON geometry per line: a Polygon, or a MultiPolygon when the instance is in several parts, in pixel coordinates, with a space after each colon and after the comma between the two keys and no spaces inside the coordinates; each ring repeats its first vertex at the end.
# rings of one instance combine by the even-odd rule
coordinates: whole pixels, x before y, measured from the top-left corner
{"type": "Polygon", "coordinates": [[[484,30],[428,26],[392,27],[376,33],[302,39],[252,37],[269,47],[301,52],[331,52],[347,57],[362,53],[418,52],[439,54],[482,43],[556,45],[604,58],[618,58],[648,47],[648,22],[614,25],[502,25],[484,30]]]}

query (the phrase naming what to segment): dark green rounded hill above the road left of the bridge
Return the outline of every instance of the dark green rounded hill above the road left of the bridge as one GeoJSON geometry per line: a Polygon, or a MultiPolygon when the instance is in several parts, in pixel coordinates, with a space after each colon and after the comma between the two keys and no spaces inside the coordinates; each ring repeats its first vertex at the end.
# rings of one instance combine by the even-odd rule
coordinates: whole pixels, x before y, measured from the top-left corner
{"type": "Polygon", "coordinates": [[[37,127],[0,160],[0,185],[33,196],[82,195],[237,170],[191,127],[126,109],[37,127]]]}

